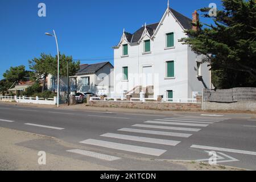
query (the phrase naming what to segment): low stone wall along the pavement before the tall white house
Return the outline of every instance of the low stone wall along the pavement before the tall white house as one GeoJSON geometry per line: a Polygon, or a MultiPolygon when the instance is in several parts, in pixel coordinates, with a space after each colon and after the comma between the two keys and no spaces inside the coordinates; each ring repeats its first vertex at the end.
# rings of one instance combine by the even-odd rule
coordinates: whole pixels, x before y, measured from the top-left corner
{"type": "Polygon", "coordinates": [[[181,104],[167,102],[129,102],[129,101],[89,101],[90,106],[96,107],[123,107],[131,109],[154,109],[154,110],[201,110],[201,104],[181,104]]]}

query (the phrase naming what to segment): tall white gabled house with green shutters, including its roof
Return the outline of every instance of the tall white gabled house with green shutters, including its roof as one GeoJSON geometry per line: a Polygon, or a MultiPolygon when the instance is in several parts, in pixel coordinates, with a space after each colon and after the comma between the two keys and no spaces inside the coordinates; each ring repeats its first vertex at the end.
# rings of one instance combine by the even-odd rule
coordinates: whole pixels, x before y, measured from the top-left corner
{"type": "MultiPolygon", "coordinates": [[[[199,14],[193,13],[193,21],[199,14]]],[[[210,88],[209,67],[203,56],[179,42],[184,30],[197,30],[192,19],[170,9],[159,23],[145,24],[130,34],[123,30],[114,48],[114,96],[147,92],[148,97],[164,99],[193,98],[196,92],[210,88]]]]}

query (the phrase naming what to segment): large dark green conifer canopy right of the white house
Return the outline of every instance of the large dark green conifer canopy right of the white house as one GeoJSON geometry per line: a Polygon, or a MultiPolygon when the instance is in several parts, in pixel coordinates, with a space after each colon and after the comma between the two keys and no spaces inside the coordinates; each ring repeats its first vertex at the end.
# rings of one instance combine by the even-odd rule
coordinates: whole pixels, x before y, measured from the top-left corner
{"type": "Polygon", "coordinates": [[[222,5],[214,17],[209,8],[200,9],[214,24],[193,24],[199,30],[186,30],[189,36],[181,42],[206,56],[218,88],[256,86],[255,0],[222,0],[222,5]]]}

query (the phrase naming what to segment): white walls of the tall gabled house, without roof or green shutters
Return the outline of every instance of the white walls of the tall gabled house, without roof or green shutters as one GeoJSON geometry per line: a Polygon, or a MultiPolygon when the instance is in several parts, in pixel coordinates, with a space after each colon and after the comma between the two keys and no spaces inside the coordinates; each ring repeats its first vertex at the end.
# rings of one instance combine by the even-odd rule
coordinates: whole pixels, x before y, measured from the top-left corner
{"type": "Polygon", "coordinates": [[[192,98],[193,92],[210,88],[210,71],[188,45],[178,40],[187,37],[184,28],[168,8],[154,34],[145,28],[141,40],[130,43],[125,32],[114,47],[114,96],[122,97],[138,86],[154,86],[154,98],[192,98]],[[167,48],[167,34],[174,33],[174,47],[167,48]],[[144,52],[144,40],[150,40],[150,52],[144,52]],[[123,56],[123,45],[128,44],[128,55],[123,56]],[[174,77],[167,77],[167,61],[174,61],[174,77]],[[128,68],[128,80],[123,80],[123,67],[128,68]],[[199,67],[199,69],[197,68],[199,67]]]}

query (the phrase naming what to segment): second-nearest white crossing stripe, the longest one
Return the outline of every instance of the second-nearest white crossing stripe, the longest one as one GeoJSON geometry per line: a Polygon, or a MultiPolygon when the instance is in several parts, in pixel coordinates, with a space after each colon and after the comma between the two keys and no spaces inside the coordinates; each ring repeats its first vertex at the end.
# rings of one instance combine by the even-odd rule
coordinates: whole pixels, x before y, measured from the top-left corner
{"type": "Polygon", "coordinates": [[[105,148],[112,148],[115,150],[135,152],[135,153],[139,153],[139,154],[153,155],[153,156],[160,156],[160,155],[164,154],[164,152],[166,152],[166,150],[160,150],[157,148],[132,146],[130,144],[106,142],[103,140],[94,140],[94,139],[84,140],[80,143],[90,144],[93,146],[100,146],[100,147],[105,147],[105,148]]]}

